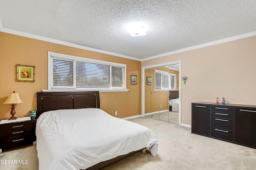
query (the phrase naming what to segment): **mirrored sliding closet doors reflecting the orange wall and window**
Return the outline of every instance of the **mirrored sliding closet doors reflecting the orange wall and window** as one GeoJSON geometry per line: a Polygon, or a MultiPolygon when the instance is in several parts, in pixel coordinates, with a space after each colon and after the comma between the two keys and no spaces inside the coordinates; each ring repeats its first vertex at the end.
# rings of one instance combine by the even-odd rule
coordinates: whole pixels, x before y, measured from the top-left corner
{"type": "Polygon", "coordinates": [[[179,123],[178,77],[172,65],[145,69],[145,117],[179,123]]]}

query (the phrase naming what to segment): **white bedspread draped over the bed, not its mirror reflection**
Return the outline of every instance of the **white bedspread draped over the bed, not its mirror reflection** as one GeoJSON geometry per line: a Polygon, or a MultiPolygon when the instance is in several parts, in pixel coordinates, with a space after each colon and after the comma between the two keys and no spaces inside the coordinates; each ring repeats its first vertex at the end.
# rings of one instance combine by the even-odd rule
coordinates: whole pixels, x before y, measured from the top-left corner
{"type": "Polygon", "coordinates": [[[154,133],[101,109],[47,111],[36,123],[40,170],[79,170],[119,155],[150,148],[158,151],[154,133]]]}

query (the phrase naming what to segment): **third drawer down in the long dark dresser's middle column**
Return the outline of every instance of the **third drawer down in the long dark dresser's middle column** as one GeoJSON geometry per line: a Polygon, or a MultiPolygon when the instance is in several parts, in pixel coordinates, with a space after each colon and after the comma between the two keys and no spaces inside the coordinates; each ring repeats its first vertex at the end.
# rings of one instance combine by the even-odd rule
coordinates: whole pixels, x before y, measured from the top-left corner
{"type": "Polygon", "coordinates": [[[212,117],[212,128],[233,130],[234,119],[219,119],[219,118],[212,117]]]}

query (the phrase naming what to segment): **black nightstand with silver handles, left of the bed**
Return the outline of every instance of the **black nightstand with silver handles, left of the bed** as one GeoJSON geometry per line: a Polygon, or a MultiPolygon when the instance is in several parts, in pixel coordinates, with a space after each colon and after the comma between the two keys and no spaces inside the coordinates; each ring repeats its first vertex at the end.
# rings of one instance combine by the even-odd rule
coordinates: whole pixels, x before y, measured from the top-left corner
{"type": "Polygon", "coordinates": [[[0,124],[0,153],[4,149],[36,141],[36,117],[31,120],[0,124]]]}

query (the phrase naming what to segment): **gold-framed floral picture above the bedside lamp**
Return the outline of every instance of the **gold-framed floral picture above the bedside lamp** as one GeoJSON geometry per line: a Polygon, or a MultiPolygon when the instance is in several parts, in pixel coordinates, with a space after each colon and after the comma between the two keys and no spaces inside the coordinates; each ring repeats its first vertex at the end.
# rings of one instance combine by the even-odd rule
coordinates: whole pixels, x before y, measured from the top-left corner
{"type": "Polygon", "coordinates": [[[17,82],[35,82],[35,66],[17,64],[17,82]]]}

